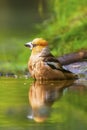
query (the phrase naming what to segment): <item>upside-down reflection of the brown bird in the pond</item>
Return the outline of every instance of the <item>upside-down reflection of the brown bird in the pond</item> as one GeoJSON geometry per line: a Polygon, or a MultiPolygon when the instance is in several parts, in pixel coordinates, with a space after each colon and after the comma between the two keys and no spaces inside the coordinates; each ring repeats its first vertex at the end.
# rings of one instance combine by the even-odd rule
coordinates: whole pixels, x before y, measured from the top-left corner
{"type": "Polygon", "coordinates": [[[29,89],[32,114],[28,115],[28,118],[44,122],[50,116],[52,104],[59,100],[64,89],[72,84],[73,80],[35,81],[29,89]]]}

